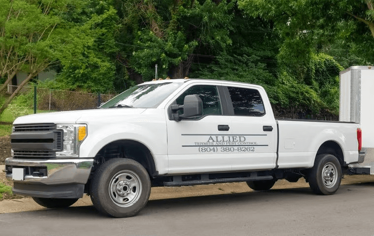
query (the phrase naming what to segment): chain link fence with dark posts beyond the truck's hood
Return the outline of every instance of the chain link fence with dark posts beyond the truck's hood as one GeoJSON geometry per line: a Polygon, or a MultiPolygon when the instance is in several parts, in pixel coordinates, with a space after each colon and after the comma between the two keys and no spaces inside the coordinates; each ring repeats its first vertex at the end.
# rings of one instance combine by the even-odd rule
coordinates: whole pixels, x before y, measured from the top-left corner
{"type": "MultiPolygon", "coordinates": [[[[0,94],[3,103],[18,86],[8,86],[7,90],[0,94]]],[[[12,104],[21,104],[39,112],[58,112],[95,109],[101,103],[107,102],[115,95],[100,93],[83,93],[56,89],[44,89],[36,87],[24,87],[12,104]],[[36,91],[36,96],[35,96],[36,91]]]]}

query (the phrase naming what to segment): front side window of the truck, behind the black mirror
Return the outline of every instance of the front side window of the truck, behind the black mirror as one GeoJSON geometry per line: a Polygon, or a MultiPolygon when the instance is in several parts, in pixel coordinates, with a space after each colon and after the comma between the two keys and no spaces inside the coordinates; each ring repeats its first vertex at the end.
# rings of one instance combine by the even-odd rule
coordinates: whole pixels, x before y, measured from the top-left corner
{"type": "MultiPolygon", "coordinates": [[[[219,101],[218,91],[216,86],[197,85],[187,89],[176,100],[178,105],[183,105],[185,96],[197,94],[203,101],[203,116],[204,115],[221,115],[221,104],[219,101]]],[[[183,114],[179,111],[180,115],[183,114]]]]}

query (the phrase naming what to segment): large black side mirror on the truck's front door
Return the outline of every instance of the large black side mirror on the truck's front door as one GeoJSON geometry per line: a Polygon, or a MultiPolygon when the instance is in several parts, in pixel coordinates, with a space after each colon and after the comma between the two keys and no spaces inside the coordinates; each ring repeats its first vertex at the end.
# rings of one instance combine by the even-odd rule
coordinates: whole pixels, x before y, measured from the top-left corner
{"type": "Polygon", "coordinates": [[[203,101],[197,94],[187,95],[183,105],[171,105],[172,117],[175,121],[181,118],[195,118],[203,115],[203,101]],[[183,115],[179,115],[178,111],[183,110],[183,115]]]}

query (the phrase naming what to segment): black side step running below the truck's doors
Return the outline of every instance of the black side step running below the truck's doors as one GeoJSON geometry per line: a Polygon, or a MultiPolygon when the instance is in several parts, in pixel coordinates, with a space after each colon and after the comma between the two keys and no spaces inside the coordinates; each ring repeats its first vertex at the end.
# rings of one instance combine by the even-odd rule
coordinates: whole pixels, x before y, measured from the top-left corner
{"type": "Polygon", "coordinates": [[[187,185],[243,182],[243,181],[250,181],[250,180],[270,180],[270,179],[274,179],[274,177],[273,176],[257,176],[257,173],[251,173],[251,175],[247,177],[223,177],[222,176],[221,178],[219,177],[212,178],[210,174],[202,174],[202,175],[191,175],[191,176],[173,176],[173,181],[164,181],[163,184],[164,186],[187,186],[187,185]],[[187,180],[186,177],[191,177],[194,179],[187,180]]]}

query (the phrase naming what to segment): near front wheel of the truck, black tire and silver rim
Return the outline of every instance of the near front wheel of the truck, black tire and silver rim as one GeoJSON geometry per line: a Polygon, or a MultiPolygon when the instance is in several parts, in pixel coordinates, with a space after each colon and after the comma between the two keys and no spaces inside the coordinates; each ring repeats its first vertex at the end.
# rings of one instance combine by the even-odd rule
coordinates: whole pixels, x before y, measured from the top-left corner
{"type": "Polygon", "coordinates": [[[104,162],[94,173],[91,200],[96,209],[112,217],[134,216],[143,209],[151,194],[146,169],[126,158],[104,162]]]}

